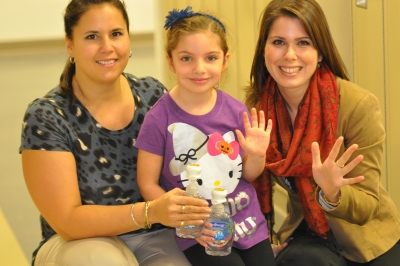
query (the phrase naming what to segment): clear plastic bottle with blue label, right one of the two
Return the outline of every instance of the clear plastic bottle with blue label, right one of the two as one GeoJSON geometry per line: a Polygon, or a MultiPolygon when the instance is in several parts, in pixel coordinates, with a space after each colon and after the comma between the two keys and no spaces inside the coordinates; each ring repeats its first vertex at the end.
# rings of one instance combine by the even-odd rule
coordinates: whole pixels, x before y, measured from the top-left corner
{"type": "Polygon", "coordinates": [[[208,243],[206,253],[212,256],[226,256],[231,253],[235,234],[235,223],[231,216],[225,212],[224,202],[226,202],[227,191],[224,188],[215,188],[212,191],[212,206],[208,222],[212,224],[216,232],[214,243],[208,243]]]}

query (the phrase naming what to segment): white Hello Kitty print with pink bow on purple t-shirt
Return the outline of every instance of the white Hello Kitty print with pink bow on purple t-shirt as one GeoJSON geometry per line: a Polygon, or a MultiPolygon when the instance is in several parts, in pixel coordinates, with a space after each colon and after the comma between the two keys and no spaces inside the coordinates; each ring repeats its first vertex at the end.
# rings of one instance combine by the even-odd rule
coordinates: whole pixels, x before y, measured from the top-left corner
{"type": "Polygon", "coordinates": [[[184,187],[189,185],[186,177],[186,166],[190,163],[200,164],[201,179],[197,180],[200,194],[211,199],[211,191],[223,187],[228,194],[232,193],[239,183],[242,174],[242,157],[240,145],[232,131],[221,135],[214,132],[207,136],[196,127],[185,123],[174,123],[168,127],[173,136],[175,157],[169,163],[174,176],[179,176],[177,183],[184,187]]]}

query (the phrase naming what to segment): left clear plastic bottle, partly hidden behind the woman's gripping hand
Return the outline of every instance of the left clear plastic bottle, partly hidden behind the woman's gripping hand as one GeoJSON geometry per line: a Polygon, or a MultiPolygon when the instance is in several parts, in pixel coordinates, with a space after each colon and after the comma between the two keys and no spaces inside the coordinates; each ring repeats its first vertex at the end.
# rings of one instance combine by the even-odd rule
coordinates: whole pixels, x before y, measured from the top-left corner
{"type": "MultiPolygon", "coordinates": [[[[186,176],[190,180],[189,185],[186,187],[187,197],[204,199],[204,197],[199,193],[199,188],[197,187],[197,179],[201,176],[201,166],[199,164],[189,164],[186,167],[186,176]]],[[[201,230],[203,230],[204,223],[201,225],[184,225],[177,227],[176,235],[182,238],[197,238],[201,236],[201,230]]]]}

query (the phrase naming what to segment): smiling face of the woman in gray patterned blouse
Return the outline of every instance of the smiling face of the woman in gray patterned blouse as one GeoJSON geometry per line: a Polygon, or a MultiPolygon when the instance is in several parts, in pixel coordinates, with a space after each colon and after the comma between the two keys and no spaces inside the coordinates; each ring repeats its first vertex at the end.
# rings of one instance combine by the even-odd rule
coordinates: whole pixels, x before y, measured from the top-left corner
{"type": "Polygon", "coordinates": [[[129,33],[121,11],[110,4],[93,5],[66,39],[79,79],[115,80],[125,69],[130,52],[129,33]]]}

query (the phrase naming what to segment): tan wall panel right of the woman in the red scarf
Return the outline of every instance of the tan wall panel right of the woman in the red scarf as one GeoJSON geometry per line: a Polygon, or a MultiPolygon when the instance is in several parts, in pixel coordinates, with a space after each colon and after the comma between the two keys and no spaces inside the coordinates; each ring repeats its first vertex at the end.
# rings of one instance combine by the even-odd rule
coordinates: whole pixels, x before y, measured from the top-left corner
{"type": "Polygon", "coordinates": [[[368,8],[353,2],[354,81],[379,99],[386,126],[382,183],[400,208],[400,2],[368,1],[368,8]]]}

